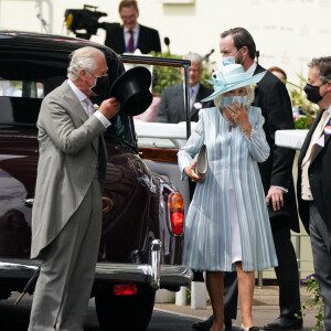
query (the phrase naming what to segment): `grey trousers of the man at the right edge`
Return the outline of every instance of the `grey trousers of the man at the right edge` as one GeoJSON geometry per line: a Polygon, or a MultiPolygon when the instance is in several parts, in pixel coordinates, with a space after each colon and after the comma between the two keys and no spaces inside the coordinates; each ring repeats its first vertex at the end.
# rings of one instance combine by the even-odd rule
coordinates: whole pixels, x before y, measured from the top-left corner
{"type": "Polygon", "coordinates": [[[331,236],[316,205],[309,205],[313,268],[324,301],[324,328],[331,330],[331,236]]]}

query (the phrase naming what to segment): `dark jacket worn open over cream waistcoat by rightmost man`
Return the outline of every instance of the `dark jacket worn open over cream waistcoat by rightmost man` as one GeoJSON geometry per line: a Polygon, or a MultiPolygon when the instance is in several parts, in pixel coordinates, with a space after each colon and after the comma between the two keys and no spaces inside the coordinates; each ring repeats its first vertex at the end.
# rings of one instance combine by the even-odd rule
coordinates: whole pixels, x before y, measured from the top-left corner
{"type": "MultiPolygon", "coordinates": [[[[301,147],[298,160],[298,183],[297,183],[297,197],[299,204],[299,214],[305,225],[306,231],[309,233],[309,202],[301,199],[301,164],[309,147],[311,136],[322,117],[323,111],[320,111],[314,122],[312,124],[305,142],[301,147]]],[[[308,177],[313,196],[313,203],[317,206],[322,220],[325,222],[331,237],[331,135],[325,135],[324,147],[317,145],[311,157],[308,177]]]]}

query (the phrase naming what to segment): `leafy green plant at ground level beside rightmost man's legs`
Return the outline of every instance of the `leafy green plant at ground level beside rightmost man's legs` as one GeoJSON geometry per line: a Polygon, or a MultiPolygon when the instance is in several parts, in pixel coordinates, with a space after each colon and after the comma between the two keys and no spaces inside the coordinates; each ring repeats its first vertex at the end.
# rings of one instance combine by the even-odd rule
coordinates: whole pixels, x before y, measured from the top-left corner
{"type": "MultiPolygon", "coordinates": [[[[306,316],[307,310],[317,309],[318,313],[316,314],[316,324],[314,329],[311,331],[318,331],[318,330],[324,330],[323,328],[323,320],[324,320],[324,302],[323,298],[320,292],[320,287],[318,284],[318,280],[316,278],[316,275],[309,275],[307,278],[301,279],[301,284],[307,286],[307,291],[309,292],[308,299],[301,303],[301,313],[302,317],[306,316]]],[[[296,313],[296,317],[298,319],[301,319],[302,317],[298,316],[296,313]]]]}

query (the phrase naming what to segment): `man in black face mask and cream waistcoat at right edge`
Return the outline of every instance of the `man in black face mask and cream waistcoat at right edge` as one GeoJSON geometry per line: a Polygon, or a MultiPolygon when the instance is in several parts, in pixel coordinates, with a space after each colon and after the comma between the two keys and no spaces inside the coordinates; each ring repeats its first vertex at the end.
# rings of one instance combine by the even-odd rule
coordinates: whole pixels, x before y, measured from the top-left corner
{"type": "Polygon", "coordinates": [[[324,330],[331,330],[331,56],[309,63],[307,99],[322,110],[298,160],[299,214],[310,234],[313,267],[324,301],[324,330]]]}

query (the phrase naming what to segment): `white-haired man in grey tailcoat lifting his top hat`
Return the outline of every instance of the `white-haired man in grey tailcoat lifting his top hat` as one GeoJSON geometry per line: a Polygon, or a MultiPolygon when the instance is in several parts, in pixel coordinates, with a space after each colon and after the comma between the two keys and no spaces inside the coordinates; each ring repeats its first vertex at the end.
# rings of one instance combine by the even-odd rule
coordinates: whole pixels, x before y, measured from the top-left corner
{"type": "Polygon", "coordinates": [[[94,113],[89,97],[107,88],[107,71],[102,51],[76,50],[68,79],[41,106],[31,258],[43,263],[29,331],[83,330],[102,232],[102,134],[120,107],[110,98],[94,113]]]}

